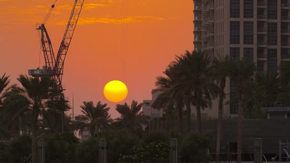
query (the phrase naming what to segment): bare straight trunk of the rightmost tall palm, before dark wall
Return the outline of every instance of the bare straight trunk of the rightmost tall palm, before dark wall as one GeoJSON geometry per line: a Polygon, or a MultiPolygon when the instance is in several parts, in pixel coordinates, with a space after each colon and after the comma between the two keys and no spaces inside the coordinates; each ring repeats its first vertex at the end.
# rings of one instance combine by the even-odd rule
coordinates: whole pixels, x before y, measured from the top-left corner
{"type": "Polygon", "coordinates": [[[242,161],[242,130],[243,130],[242,86],[238,85],[238,121],[237,121],[237,163],[242,161]]]}

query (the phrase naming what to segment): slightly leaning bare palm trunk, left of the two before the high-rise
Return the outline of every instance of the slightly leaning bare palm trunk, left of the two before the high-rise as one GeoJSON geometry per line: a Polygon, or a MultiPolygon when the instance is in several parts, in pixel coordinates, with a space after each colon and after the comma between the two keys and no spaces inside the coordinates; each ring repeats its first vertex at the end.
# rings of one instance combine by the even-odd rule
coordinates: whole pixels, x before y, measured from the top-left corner
{"type": "Polygon", "coordinates": [[[226,86],[226,79],[220,81],[221,92],[219,95],[219,109],[218,109],[218,124],[217,124],[217,136],[216,136],[216,162],[220,162],[221,151],[221,135],[222,135],[222,119],[223,119],[223,102],[224,102],[224,89],[226,86]]]}

